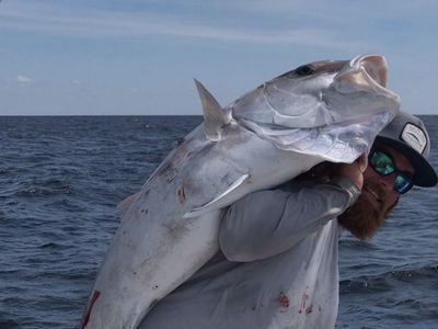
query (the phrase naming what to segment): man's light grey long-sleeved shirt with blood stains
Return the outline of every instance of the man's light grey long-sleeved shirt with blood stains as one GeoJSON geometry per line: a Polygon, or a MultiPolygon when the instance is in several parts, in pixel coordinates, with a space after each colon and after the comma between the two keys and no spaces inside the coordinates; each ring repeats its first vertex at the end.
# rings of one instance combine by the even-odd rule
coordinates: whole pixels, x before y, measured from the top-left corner
{"type": "Polygon", "coordinates": [[[235,202],[221,220],[221,251],[161,299],[139,328],[333,328],[339,228],[332,219],[359,194],[338,177],[235,202]]]}

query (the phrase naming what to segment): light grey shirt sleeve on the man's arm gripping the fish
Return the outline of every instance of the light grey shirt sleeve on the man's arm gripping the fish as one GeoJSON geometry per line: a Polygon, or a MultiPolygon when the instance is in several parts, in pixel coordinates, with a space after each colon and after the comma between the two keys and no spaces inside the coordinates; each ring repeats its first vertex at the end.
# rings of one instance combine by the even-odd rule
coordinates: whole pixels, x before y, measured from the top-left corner
{"type": "Polygon", "coordinates": [[[219,245],[230,261],[250,262],[281,253],[328,220],[359,196],[346,177],[296,191],[266,190],[244,196],[224,213],[219,245]]]}

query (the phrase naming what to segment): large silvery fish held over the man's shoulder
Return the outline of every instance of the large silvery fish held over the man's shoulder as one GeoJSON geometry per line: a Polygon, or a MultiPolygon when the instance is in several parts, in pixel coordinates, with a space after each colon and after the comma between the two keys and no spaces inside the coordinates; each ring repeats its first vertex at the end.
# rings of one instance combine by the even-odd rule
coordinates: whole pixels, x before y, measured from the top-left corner
{"type": "Polygon", "coordinates": [[[353,162],[399,111],[378,55],[300,66],[224,109],[197,81],[204,123],[185,137],[122,222],[82,328],[137,328],[153,304],[218,250],[223,209],[322,161],[353,162]]]}

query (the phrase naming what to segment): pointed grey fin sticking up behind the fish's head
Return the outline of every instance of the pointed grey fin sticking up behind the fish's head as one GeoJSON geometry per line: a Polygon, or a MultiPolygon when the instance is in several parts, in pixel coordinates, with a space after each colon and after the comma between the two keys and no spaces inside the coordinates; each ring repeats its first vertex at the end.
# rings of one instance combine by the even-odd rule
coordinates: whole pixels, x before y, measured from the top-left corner
{"type": "Polygon", "coordinates": [[[203,83],[196,79],[194,80],[199,93],[200,103],[203,104],[206,137],[211,141],[218,141],[222,139],[223,127],[231,122],[231,112],[222,110],[218,101],[203,83]]]}

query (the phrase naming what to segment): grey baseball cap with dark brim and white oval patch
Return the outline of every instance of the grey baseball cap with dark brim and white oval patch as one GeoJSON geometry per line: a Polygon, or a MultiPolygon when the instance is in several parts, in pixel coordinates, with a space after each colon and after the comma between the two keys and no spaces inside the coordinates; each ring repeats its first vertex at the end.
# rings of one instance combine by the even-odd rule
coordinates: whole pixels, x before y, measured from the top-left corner
{"type": "Polygon", "coordinates": [[[389,145],[406,157],[415,170],[414,185],[429,188],[437,184],[437,173],[428,161],[430,138],[418,117],[400,111],[376,141],[389,145]]]}

